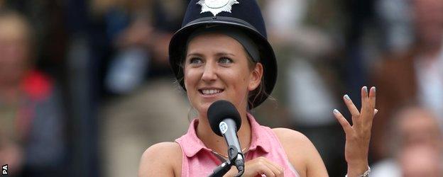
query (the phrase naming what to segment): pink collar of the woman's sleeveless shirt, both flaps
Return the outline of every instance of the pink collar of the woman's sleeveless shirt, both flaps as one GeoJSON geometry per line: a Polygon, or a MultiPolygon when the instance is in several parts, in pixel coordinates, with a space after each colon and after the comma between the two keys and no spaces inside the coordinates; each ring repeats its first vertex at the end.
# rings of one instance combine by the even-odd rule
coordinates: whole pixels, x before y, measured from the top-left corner
{"type": "MultiPolygon", "coordinates": [[[[263,151],[268,153],[270,151],[270,142],[268,139],[266,130],[263,130],[261,125],[253,118],[251,114],[247,114],[249,123],[251,124],[251,145],[249,146],[248,152],[256,151],[258,147],[263,151]]],[[[192,120],[190,127],[187,130],[186,135],[183,135],[179,139],[176,139],[177,142],[181,142],[181,146],[183,152],[187,157],[195,156],[200,151],[204,152],[212,152],[211,149],[208,149],[204,146],[202,140],[197,137],[197,133],[195,129],[198,125],[198,119],[192,120]]]]}

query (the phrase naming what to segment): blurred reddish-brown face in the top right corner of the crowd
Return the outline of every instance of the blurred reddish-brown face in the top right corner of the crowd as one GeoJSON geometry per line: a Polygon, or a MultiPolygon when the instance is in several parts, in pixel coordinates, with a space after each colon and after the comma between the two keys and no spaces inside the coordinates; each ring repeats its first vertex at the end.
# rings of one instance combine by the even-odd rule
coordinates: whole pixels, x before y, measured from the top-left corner
{"type": "Polygon", "coordinates": [[[441,45],[443,0],[412,0],[418,40],[426,45],[441,45]]]}

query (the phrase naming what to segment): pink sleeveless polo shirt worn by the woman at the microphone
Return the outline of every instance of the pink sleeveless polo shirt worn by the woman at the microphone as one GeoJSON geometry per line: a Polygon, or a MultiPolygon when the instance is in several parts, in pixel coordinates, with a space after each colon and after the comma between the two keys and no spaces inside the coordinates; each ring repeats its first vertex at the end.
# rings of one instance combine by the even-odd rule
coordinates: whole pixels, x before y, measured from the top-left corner
{"type": "MultiPolygon", "coordinates": [[[[266,157],[270,161],[279,164],[285,169],[285,176],[299,176],[292,164],[288,161],[278,137],[269,127],[258,125],[255,118],[248,113],[251,124],[251,147],[246,152],[246,161],[256,159],[259,156],[266,157]]],[[[195,128],[198,120],[192,120],[187,133],[175,139],[182,148],[182,176],[209,176],[214,169],[222,164],[219,158],[204,146],[197,137],[195,128]]]]}

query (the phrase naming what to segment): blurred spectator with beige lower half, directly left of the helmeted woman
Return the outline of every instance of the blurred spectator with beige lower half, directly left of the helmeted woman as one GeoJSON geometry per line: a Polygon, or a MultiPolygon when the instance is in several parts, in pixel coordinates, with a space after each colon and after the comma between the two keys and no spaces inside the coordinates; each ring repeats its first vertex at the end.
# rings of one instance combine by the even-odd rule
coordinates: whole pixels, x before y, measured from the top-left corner
{"type": "Polygon", "coordinates": [[[103,169],[105,176],[136,176],[146,146],[172,141],[189,125],[182,113],[190,106],[173,87],[168,62],[169,41],[187,4],[120,2],[105,13],[116,55],[104,81],[106,90],[120,96],[102,106],[103,169]]]}

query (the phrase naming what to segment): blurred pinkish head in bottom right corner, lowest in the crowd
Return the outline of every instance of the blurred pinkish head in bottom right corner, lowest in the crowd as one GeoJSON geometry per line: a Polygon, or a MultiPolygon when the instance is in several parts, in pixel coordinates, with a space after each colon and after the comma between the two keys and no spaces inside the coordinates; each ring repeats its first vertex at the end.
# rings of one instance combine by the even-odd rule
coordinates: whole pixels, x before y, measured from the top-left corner
{"type": "Polygon", "coordinates": [[[400,152],[400,169],[404,177],[440,177],[442,154],[429,146],[417,145],[400,152]]]}

